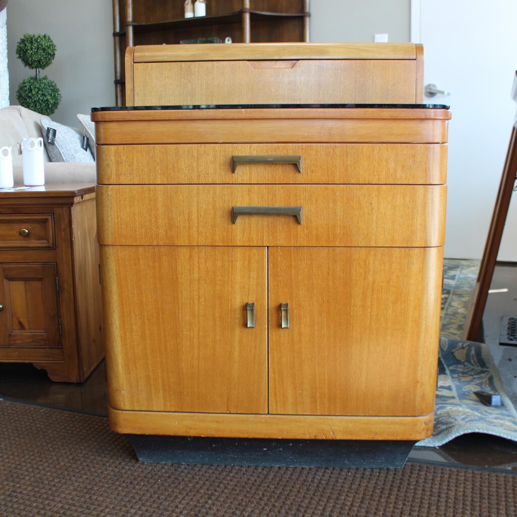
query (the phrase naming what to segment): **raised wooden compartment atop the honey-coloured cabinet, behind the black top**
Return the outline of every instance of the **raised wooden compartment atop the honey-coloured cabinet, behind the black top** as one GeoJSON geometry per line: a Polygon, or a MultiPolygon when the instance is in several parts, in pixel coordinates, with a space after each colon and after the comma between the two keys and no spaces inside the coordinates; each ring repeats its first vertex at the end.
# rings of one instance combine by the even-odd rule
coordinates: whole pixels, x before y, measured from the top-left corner
{"type": "Polygon", "coordinates": [[[412,43],[143,45],[126,54],[126,99],[414,104],[423,101],[422,76],[422,48],[412,43]]]}

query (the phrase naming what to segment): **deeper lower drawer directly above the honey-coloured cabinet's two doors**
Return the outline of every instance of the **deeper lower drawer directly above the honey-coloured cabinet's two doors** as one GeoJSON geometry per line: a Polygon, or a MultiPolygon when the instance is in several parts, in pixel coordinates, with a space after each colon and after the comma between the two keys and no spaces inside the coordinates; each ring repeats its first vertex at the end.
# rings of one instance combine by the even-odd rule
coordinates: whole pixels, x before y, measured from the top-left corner
{"type": "Polygon", "coordinates": [[[446,186],[440,185],[99,185],[97,196],[104,245],[433,247],[444,242],[446,186]],[[242,207],[291,210],[290,215],[239,215],[242,207]]]}

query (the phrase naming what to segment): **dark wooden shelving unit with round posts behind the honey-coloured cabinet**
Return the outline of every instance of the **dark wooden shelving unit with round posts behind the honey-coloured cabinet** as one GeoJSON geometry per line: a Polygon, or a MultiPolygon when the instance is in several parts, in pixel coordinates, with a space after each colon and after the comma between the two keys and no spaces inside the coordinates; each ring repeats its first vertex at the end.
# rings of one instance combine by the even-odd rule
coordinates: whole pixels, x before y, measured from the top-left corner
{"type": "Polygon", "coordinates": [[[124,55],[134,45],[230,37],[234,43],[309,41],[309,0],[208,0],[205,17],[184,18],[183,1],[113,0],[116,104],[125,104],[124,55]]]}

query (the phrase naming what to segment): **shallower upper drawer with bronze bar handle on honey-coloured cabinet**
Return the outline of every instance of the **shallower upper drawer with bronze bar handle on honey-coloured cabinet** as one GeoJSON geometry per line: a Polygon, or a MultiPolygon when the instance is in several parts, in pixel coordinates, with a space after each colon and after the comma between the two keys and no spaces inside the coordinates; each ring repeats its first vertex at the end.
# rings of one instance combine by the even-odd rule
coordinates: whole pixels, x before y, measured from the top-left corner
{"type": "Polygon", "coordinates": [[[169,144],[97,147],[99,184],[446,182],[446,144],[169,144]]]}

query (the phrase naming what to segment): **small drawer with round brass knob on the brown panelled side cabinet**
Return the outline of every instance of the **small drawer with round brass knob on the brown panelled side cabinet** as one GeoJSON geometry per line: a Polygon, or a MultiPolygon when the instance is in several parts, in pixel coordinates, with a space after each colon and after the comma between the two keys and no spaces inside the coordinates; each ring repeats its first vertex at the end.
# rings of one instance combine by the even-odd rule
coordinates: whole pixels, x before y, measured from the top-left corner
{"type": "Polygon", "coordinates": [[[52,214],[0,215],[0,248],[54,248],[52,214]]]}

